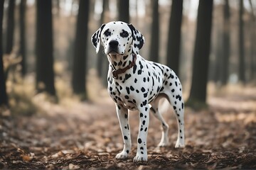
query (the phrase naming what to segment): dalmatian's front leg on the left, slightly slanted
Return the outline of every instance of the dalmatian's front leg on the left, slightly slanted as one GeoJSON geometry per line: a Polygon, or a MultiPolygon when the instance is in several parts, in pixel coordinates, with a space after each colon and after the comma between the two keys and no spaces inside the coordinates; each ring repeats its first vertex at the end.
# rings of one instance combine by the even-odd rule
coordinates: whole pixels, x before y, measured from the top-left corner
{"type": "Polygon", "coordinates": [[[122,130],[122,137],[124,140],[124,149],[122,152],[117,154],[116,159],[126,159],[128,157],[129,152],[132,149],[132,140],[129,130],[129,113],[127,108],[123,106],[119,106],[116,104],[117,108],[117,117],[119,120],[120,128],[122,130]]]}

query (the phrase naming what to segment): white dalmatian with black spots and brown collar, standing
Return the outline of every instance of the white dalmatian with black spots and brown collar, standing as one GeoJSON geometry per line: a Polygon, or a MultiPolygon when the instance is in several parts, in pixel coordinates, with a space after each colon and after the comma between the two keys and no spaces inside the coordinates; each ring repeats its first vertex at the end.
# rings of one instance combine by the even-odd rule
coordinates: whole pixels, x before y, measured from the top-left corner
{"type": "Polygon", "coordinates": [[[182,86],[169,67],[144,60],[139,50],[144,36],[132,24],[121,21],[103,24],[93,35],[92,44],[99,51],[100,45],[110,62],[107,90],[116,104],[117,117],[122,131],[124,149],[116,159],[126,159],[132,149],[128,110],[139,111],[139,134],[134,162],[147,161],[146,137],[149,130],[149,111],[161,121],[159,147],[169,145],[167,125],[159,113],[160,98],[167,98],[174,108],[178,123],[178,140],[175,147],[184,147],[184,103],[182,86]]]}

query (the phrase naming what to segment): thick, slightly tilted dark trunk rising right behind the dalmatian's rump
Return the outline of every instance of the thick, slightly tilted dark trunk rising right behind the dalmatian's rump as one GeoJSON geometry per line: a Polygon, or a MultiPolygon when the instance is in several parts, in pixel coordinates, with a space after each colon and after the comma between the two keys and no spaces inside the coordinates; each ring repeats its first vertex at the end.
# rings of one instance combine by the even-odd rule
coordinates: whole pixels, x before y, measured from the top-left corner
{"type": "Polygon", "coordinates": [[[169,21],[169,36],[167,45],[167,66],[176,72],[179,69],[179,57],[181,47],[181,21],[183,0],[173,0],[171,4],[171,16],[169,21]]]}

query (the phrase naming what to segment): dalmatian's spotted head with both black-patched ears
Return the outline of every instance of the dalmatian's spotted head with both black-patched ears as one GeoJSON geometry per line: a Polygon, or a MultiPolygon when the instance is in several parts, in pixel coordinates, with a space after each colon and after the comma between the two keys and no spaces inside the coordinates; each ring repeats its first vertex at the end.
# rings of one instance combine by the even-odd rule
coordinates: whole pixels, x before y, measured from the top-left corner
{"type": "Polygon", "coordinates": [[[102,44],[106,55],[129,55],[132,52],[138,55],[144,42],[144,36],[139,30],[121,21],[102,24],[92,35],[96,52],[99,52],[102,44]]]}

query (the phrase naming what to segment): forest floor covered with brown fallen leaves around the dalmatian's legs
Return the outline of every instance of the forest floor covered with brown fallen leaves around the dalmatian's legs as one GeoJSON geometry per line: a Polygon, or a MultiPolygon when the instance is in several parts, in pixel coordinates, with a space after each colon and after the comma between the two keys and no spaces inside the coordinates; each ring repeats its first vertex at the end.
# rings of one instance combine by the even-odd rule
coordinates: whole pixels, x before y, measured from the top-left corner
{"type": "Polygon", "coordinates": [[[160,123],[151,116],[148,162],[134,163],[138,114],[130,115],[132,153],[117,160],[122,135],[107,95],[92,102],[54,104],[39,99],[41,113],[13,115],[0,111],[0,169],[256,169],[256,89],[246,87],[208,97],[203,111],[186,108],[186,147],[176,149],[172,109],[169,147],[156,147],[160,123]]]}

